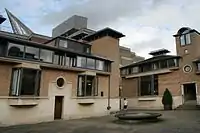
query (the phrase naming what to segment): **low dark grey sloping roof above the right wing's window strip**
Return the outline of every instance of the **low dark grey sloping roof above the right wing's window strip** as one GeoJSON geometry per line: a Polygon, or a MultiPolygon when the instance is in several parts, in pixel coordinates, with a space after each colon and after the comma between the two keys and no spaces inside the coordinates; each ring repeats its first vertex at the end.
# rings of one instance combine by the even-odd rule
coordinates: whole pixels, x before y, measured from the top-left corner
{"type": "Polygon", "coordinates": [[[121,68],[144,65],[144,64],[147,64],[147,63],[151,63],[151,62],[167,60],[167,59],[173,59],[173,58],[180,58],[180,56],[176,56],[176,55],[159,55],[159,56],[155,56],[155,57],[143,60],[143,61],[139,61],[139,62],[136,62],[136,63],[132,63],[132,64],[129,64],[129,65],[123,66],[121,68]]]}

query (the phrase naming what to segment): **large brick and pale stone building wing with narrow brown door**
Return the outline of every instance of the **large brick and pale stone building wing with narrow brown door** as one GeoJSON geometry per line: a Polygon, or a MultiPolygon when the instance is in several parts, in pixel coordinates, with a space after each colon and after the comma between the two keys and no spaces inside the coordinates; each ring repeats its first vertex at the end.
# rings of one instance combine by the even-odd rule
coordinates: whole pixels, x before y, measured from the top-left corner
{"type": "Polygon", "coordinates": [[[0,123],[75,119],[119,110],[123,36],[105,28],[80,42],[0,31],[0,123]]]}

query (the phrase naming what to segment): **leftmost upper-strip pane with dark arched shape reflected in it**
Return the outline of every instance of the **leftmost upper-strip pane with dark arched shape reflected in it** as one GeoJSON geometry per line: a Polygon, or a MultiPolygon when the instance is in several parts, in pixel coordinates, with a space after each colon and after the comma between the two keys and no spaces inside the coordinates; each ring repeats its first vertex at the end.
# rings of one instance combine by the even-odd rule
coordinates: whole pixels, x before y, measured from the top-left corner
{"type": "Polygon", "coordinates": [[[23,58],[24,45],[9,43],[8,44],[8,56],[23,58]]]}

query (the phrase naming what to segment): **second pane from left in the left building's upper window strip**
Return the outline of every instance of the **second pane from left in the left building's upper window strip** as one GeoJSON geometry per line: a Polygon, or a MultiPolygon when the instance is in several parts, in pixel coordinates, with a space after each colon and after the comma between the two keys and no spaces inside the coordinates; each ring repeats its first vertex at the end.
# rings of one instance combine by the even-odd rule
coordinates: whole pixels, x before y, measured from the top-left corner
{"type": "Polygon", "coordinates": [[[26,46],[25,58],[39,60],[39,48],[26,46]]]}

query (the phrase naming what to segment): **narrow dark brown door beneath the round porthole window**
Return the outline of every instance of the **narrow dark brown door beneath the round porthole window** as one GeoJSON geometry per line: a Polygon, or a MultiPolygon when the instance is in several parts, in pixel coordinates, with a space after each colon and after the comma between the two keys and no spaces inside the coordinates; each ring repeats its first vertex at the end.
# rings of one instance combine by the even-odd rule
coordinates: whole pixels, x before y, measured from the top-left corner
{"type": "Polygon", "coordinates": [[[54,119],[62,118],[63,96],[55,96],[54,119]]]}

